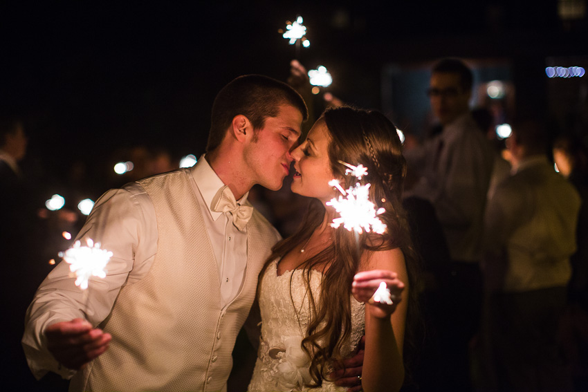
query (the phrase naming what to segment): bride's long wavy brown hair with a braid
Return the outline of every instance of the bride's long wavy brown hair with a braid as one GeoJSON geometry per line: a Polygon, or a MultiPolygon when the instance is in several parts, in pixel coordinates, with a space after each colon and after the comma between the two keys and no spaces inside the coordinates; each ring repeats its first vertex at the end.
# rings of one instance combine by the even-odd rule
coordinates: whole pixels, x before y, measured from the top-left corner
{"type": "MultiPolygon", "coordinates": [[[[405,256],[409,276],[409,313],[411,303],[414,303],[412,293],[415,292],[416,254],[401,200],[406,163],[396,127],[378,111],[347,106],[327,109],[322,119],[331,136],[328,150],[334,178],[344,178],[341,186],[347,189],[358,180],[353,176],[345,176],[347,167],[339,161],[367,167],[368,175],[362,178],[362,182],[371,183],[369,199],[376,204],[376,209],[385,208],[379,218],[387,225],[387,230],[383,235],[362,234],[358,245],[353,232],[339,227],[327,248],[296,268],[304,271],[311,307],[311,322],[302,340],[302,348],[311,357],[310,373],[314,383],[309,386],[321,386],[322,380],[330,380],[330,370],[342,368],[339,353],[351,334],[351,282],[359,268],[358,249],[362,253],[400,248],[405,256]],[[309,288],[311,271],[324,270],[329,261],[332,263],[322,276],[323,295],[317,301],[309,288]]],[[[320,200],[312,199],[297,232],[272,248],[264,270],[271,261],[285,256],[307,241],[322,223],[324,213],[325,207],[320,200]]],[[[407,328],[407,338],[409,333],[407,328]]]]}

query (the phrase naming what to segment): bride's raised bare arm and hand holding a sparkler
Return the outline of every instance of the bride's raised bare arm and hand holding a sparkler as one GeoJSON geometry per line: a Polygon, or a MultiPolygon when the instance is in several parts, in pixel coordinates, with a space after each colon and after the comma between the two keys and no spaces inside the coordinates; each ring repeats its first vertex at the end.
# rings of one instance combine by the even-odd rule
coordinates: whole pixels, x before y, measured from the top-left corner
{"type": "Polygon", "coordinates": [[[399,391],[404,381],[402,348],[409,290],[404,256],[399,249],[371,252],[363,265],[352,288],[354,297],[366,303],[362,388],[399,391]],[[382,281],[392,292],[394,304],[369,304],[382,281]]]}

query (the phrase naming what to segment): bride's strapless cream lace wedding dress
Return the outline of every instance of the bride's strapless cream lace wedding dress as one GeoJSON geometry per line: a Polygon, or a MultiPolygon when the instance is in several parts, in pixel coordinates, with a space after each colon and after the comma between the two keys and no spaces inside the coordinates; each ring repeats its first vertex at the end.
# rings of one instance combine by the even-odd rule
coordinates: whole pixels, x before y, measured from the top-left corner
{"type": "MultiPolygon", "coordinates": [[[[309,357],[300,348],[309,324],[309,297],[302,270],[287,271],[277,276],[277,261],[273,261],[261,281],[261,344],[248,391],[345,391],[323,380],[321,389],[308,389],[309,357]],[[300,321],[300,324],[299,324],[300,321]]],[[[322,274],[311,272],[310,286],[318,302],[322,274]]],[[[364,334],[365,305],[353,297],[351,301],[351,337],[344,345],[341,357],[353,353],[364,334]]]]}

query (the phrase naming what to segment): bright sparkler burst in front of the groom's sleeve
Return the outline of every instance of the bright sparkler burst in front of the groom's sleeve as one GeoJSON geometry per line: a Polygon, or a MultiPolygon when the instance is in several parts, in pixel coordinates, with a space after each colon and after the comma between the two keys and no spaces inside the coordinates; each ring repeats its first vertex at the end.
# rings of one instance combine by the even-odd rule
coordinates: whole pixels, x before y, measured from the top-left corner
{"type": "Polygon", "coordinates": [[[100,243],[94,243],[87,239],[88,246],[81,246],[80,241],[75,241],[72,248],[65,252],[59,252],[59,256],[69,264],[69,270],[75,274],[75,286],[82,290],[88,288],[90,277],[106,277],[106,265],[112,257],[112,252],[100,249],[100,243]]]}

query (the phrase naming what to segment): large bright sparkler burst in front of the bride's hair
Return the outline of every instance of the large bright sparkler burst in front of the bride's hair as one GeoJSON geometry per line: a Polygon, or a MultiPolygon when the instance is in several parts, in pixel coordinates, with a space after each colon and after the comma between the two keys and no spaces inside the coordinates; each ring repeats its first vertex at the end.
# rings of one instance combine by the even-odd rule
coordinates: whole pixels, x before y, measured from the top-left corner
{"type": "MultiPolygon", "coordinates": [[[[341,162],[341,161],[339,161],[341,162]]],[[[348,163],[341,162],[343,165],[349,167],[345,171],[345,175],[351,174],[358,179],[362,176],[367,176],[367,168],[362,165],[353,166],[348,163]]],[[[339,227],[343,225],[345,229],[355,231],[358,234],[366,232],[376,232],[383,234],[386,230],[386,225],[378,218],[379,214],[385,212],[385,209],[380,208],[376,211],[374,203],[369,201],[369,187],[371,184],[361,185],[356,183],[354,187],[344,190],[339,184],[338,180],[329,181],[331,187],[336,187],[341,192],[342,196],[339,198],[332,198],[331,201],[327,202],[327,205],[331,205],[339,213],[339,218],[334,218],[331,227],[339,227]],[[343,197],[345,196],[345,197],[343,197]]]]}

